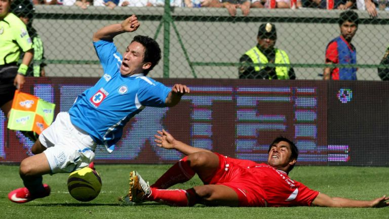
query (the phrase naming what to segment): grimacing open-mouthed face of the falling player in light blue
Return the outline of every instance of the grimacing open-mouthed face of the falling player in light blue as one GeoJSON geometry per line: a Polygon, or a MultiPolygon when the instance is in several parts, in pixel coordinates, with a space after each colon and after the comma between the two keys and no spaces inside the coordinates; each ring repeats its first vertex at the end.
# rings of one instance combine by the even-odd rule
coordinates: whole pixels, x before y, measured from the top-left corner
{"type": "MultiPolygon", "coordinates": [[[[1,0],[0,0],[1,1],[1,0]]],[[[122,75],[139,74],[143,72],[143,57],[145,48],[139,42],[131,42],[123,54],[120,73],[122,75]]]]}

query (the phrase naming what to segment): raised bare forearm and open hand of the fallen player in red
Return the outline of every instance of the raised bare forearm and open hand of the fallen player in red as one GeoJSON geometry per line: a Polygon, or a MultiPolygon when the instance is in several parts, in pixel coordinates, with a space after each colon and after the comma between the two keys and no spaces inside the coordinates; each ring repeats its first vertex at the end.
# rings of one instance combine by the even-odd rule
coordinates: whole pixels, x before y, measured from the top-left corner
{"type": "Polygon", "coordinates": [[[162,131],[159,130],[157,131],[157,133],[158,135],[154,135],[155,137],[154,142],[157,143],[158,147],[166,148],[166,149],[175,149],[185,155],[189,155],[200,151],[211,152],[206,149],[195,148],[183,142],[177,141],[173,138],[172,135],[170,135],[170,133],[166,132],[165,129],[162,129],[162,131]]]}

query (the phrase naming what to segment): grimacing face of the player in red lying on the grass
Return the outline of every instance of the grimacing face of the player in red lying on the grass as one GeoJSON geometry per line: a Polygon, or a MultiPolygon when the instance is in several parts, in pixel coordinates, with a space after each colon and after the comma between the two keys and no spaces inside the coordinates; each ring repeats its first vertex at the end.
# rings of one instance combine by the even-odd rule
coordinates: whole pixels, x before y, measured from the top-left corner
{"type": "Polygon", "coordinates": [[[267,163],[270,166],[282,169],[287,167],[290,162],[292,151],[288,142],[281,141],[275,145],[272,145],[267,157],[267,163]]]}

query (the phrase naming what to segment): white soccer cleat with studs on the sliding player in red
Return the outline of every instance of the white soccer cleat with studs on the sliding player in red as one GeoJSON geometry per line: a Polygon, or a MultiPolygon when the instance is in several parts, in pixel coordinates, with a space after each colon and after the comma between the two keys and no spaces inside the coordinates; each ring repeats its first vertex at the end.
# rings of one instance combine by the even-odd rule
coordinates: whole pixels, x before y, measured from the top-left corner
{"type": "Polygon", "coordinates": [[[151,194],[148,182],[144,181],[137,171],[130,172],[129,201],[134,203],[144,202],[145,198],[151,194]]]}

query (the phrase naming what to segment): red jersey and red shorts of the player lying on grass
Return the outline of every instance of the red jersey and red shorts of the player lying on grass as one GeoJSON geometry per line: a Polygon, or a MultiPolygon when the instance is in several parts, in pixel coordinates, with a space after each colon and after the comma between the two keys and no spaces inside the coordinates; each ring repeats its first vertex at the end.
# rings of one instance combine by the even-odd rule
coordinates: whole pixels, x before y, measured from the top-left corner
{"type": "Polygon", "coordinates": [[[288,175],[265,163],[219,156],[219,168],[204,184],[233,189],[245,207],[310,206],[319,192],[289,179],[288,175]]]}

